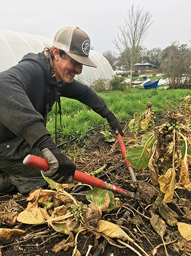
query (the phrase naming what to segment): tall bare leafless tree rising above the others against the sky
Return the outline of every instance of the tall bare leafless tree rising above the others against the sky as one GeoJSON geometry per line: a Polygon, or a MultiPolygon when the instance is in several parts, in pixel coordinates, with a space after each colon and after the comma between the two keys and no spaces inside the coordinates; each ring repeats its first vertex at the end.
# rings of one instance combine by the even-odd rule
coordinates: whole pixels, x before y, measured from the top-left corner
{"type": "Polygon", "coordinates": [[[126,60],[130,69],[130,86],[132,85],[132,73],[136,56],[141,49],[142,41],[148,35],[148,28],[151,26],[150,12],[144,12],[143,8],[134,7],[128,9],[127,17],[124,17],[124,24],[119,27],[120,35],[114,39],[114,44],[120,53],[126,53],[126,60]]]}

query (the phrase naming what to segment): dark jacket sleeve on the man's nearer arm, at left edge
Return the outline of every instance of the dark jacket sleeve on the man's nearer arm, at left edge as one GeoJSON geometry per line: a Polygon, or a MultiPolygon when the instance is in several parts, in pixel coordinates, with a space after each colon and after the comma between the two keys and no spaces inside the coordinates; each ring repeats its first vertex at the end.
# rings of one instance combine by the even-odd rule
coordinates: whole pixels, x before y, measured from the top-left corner
{"type": "Polygon", "coordinates": [[[41,136],[49,134],[43,116],[28,96],[35,98],[36,94],[38,97],[43,93],[43,90],[35,92],[37,88],[32,87],[37,84],[35,72],[39,73],[38,66],[18,64],[0,74],[0,124],[16,136],[22,136],[31,146],[41,136]]]}

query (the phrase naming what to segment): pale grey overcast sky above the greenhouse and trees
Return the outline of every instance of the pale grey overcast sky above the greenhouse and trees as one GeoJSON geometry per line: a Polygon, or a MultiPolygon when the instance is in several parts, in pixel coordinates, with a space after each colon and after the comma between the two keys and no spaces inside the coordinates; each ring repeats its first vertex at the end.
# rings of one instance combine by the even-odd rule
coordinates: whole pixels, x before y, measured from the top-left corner
{"type": "Polygon", "coordinates": [[[112,40],[132,4],[152,14],[154,22],[144,41],[147,49],[164,49],[176,40],[191,46],[191,0],[6,0],[1,4],[0,29],[53,39],[62,27],[77,26],[102,54],[116,51],[112,40]]]}

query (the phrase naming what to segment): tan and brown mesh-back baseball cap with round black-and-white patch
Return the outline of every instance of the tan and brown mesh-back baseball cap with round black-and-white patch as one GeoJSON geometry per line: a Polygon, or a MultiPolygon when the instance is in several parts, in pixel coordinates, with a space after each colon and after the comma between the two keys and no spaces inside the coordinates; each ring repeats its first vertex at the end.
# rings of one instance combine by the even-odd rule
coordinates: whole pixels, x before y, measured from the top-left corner
{"type": "Polygon", "coordinates": [[[90,67],[97,65],[89,59],[90,39],[78,27],[63,27],[53,39],[53,46],[63,50],[77,62],[90,67]]]}

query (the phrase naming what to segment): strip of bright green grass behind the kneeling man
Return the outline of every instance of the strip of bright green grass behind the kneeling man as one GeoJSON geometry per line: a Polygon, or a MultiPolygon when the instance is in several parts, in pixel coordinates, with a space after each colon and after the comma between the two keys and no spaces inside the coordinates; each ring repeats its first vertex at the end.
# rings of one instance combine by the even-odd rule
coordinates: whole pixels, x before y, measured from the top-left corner
{"type": "MultiPolygon", "coordinates": [[[[115,113],[118,121],[128,122],[132,118],[134,110],[138,112],[144,111],[140,106],[139,100],[143,104],[149,101],[153,105],[155,113],[162,113],[166,110],[166,97],[169,96],[171,109],[177,109],[180,106],[180,99],[184,96],[190,95],[191,90],[181,89],[152,89],[140,90],[138,88],[126,89],[122,91],[98,93],[108,105],[109,109],[115,113]]],[[[79,101],[62,98],[62,130],[59,124],[59,115],[57,115],[57,137],[59,143],[77,138],[83,138],[87,130],[106,124],[107,120],[92,111],[86,105],[79,101]]],[[[47,129],[55,137],[55,105],[49,113],[47,129]]]]}

